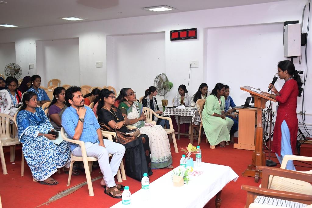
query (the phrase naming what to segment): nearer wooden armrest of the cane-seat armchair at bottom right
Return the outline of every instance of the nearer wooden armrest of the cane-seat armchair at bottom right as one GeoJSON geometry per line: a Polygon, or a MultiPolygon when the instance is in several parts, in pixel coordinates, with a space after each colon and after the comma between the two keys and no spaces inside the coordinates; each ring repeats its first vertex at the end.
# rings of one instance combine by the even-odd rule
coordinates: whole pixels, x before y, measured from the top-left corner
{"type": "Polygon", "coordinates": [[[247,185],[242,185],[241,189],[247,192],[255,193],[256,196],[267,196],[267,197],[272,196],[273,198],[284,200],[293,199],[292,201],[298,200],[300,203],[303,203],[302,201],[306,201],[307,203],[312,201],[312,196],[295,192],[279,191],[274,189],[260,188],[257,186],[247,186],[247,185]]]}

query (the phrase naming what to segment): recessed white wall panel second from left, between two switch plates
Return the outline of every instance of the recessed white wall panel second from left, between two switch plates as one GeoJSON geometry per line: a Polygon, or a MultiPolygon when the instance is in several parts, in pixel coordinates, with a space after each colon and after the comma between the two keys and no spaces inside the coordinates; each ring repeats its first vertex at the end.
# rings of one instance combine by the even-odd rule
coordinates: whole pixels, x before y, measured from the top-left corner
{"type": "Polygon", "coordinates": [[[41,71],[41,85],[60,78],[61,85],[80,85],[79,39],[36,41],[37,69],[41,71]],[[38,58],[40,57],[40,58],[38,58]],[[62,78],[65,78],[62,79],[62,78]]]}

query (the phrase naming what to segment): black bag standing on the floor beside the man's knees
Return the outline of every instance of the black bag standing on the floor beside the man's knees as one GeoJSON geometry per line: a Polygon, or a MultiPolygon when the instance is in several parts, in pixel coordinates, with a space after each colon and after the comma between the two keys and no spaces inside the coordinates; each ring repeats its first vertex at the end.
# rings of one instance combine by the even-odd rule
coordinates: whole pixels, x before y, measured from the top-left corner
{"type": "Polygon", "coordinates": [[[126,148],[125,165],[127,176],[141,181],[143,173],[153,174],[151,168],[147,165],[141,138],[124,144],[124,147],[126,148]]]}

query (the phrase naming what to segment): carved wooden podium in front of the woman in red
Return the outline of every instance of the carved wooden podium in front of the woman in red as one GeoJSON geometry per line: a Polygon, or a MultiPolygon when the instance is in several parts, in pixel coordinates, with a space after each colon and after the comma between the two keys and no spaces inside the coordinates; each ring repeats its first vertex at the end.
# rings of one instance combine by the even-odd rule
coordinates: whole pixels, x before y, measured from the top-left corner
{"type": "MultiPolygon", "coordinates": [[[[263,152],[263,127],[262,127],[262,109],[266,108],[266,102],[271,100],[276,102],[275,99],[265,96],[264,94],[252,91],[250,86],[241,87],[241,90],[249,92],[255,98],[255,107],[257,108],[257,127],[256,127],[256,144],[255,151],[252,153],[251,165],[242,173],[242,176],[255,177],[255,182],[259,181],[261,172],[259,166],[266,165],[266,155],[263,152]]],[[[256,89],[256,88],[253,88],[256,89]]]]}

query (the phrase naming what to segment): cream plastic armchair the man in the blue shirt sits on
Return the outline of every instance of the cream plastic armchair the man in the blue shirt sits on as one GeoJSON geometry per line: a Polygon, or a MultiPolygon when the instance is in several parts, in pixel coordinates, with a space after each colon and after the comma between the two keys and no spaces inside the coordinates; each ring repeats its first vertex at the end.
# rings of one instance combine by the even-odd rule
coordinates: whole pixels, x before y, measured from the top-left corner
{"type": "MultiPolygon", "coordinates": [[[[63,127],[61,128],[61,135],[62,135],[62,138],[64,140],[66,140],[67,142],[78,144],[80,146],[81,154],[82,154],[82,157],[74,156],[73,154],[71,154],[71,166],[70,166],[70,169],[69,169],[67,186],[69,186],[70,183],[71,183],[71,172],[73,170],[74,162],[75,161],[83,161],[83,165],[84,165],[84,168],[85,168],[85,177],[87,179],[87,184],[88,184],[89,196],[94,196],[93,186],[92,186],[92,181],[91,181],[91,172],[92,172],[92,163],[93,163],[93,161],[97,161],[98,160],[97,157],[87,157],[87,152],[85,150],[85,143],[83,141],[79,141],[79,140],[74,140],[74,139],[68,138],[67,135],[65,134],[65,130],[64,130],[63,127]]],[[[109,154],[109,156],[111,157],[112,155],[109,154]]],[[[120,168],[122,168],[123,166],[124,166],[124,164],[121,161],[120,168]]],[[[119,169],[118,169],[118,172],[117,172],[117,180],[118,180],[119,183],[122,182],[119,169]]]]}

